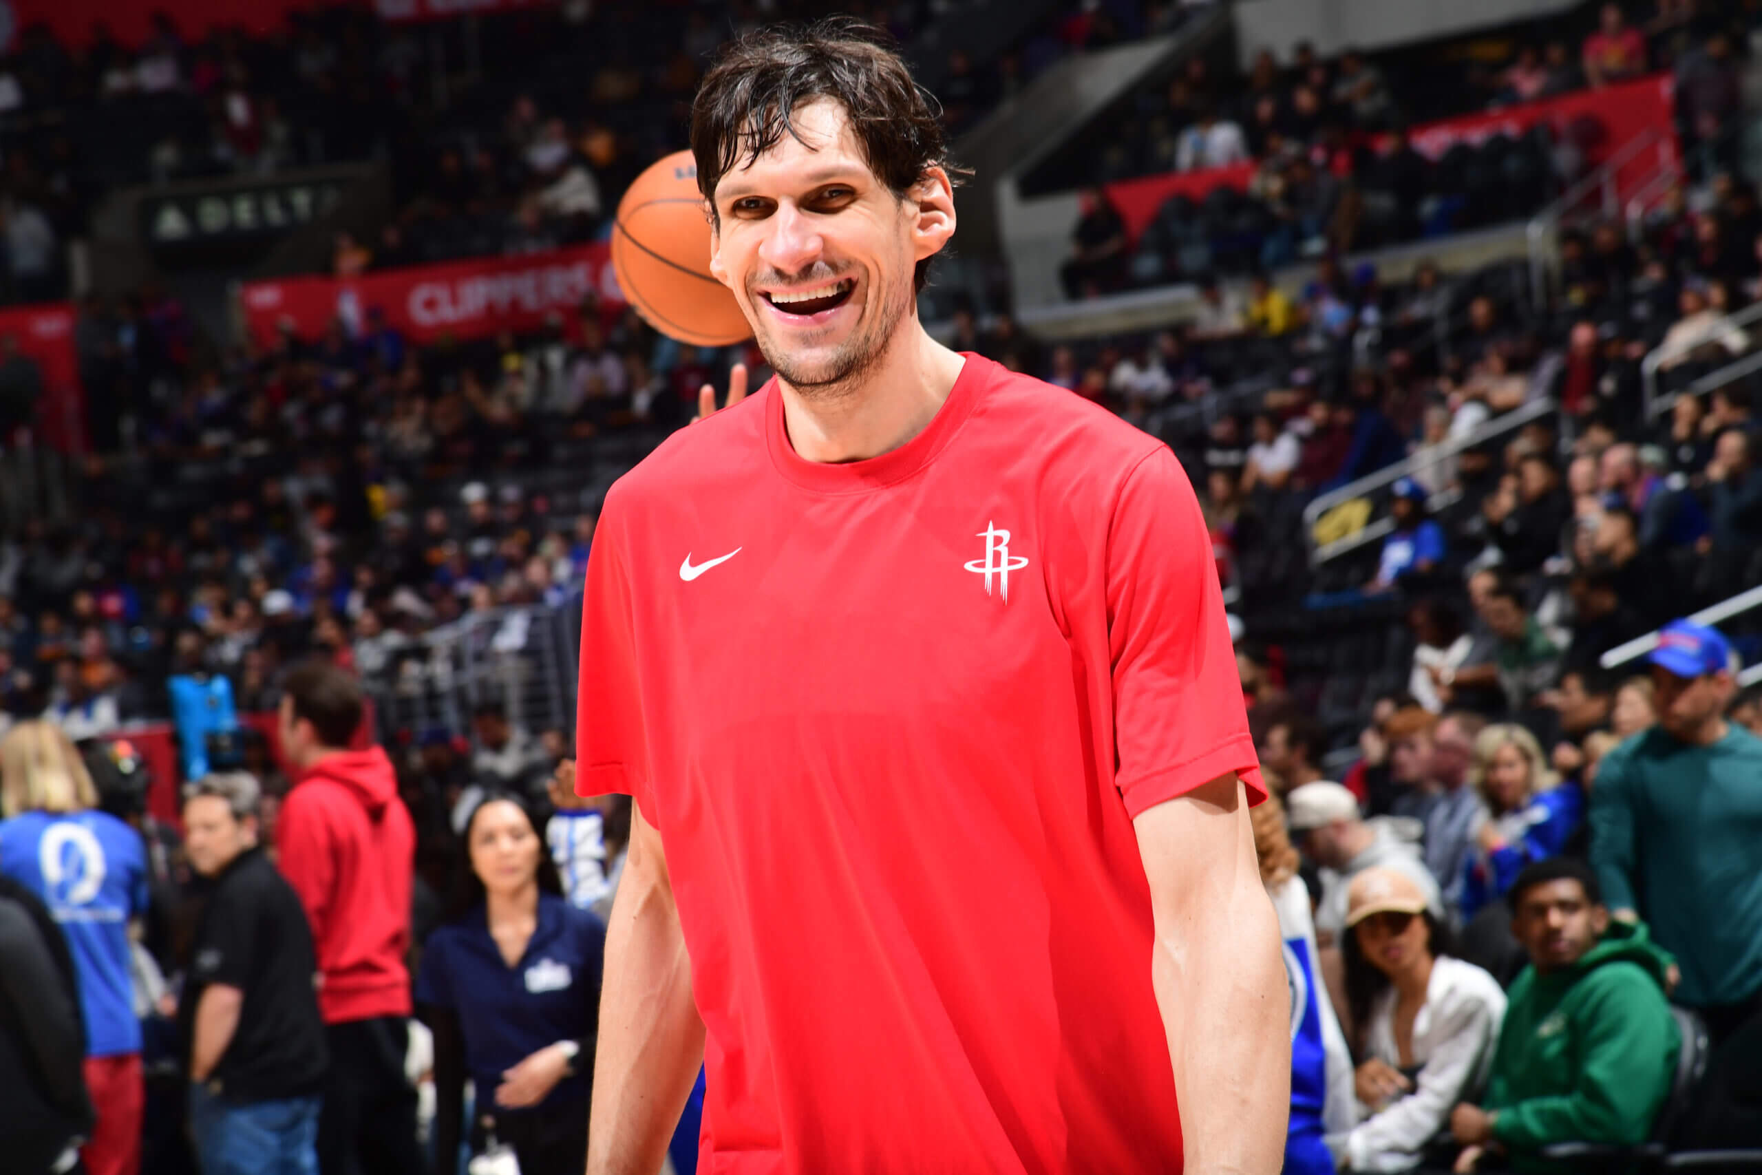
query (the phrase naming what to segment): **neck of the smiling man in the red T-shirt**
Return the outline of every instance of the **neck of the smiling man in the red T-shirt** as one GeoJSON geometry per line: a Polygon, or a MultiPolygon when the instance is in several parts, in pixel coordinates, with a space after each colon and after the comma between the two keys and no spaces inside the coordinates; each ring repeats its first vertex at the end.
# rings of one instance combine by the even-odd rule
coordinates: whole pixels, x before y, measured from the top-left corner
{"type": "Polygon", "coordinates": [[[902,321],[886,356],[856,388],[803,396],[779,379],[789,444],[803,460],[826,465],[892,453],[936,419],[964,365],[916,317],[902,321]]]}

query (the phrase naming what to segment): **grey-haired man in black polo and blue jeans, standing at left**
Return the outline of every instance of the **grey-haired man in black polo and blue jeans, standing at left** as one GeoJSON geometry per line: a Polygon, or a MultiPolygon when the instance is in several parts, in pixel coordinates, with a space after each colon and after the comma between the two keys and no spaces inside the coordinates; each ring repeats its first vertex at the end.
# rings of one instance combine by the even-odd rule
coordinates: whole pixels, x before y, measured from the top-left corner
{"type": "Polygon", "coordinates": [[[183,802],[190,868],[210,881],[178,1006],[190,1134],[204,1171],[317,1175],[328,1055],[312,928],[257,840],[259,787],[208,775],[183,802]]]}

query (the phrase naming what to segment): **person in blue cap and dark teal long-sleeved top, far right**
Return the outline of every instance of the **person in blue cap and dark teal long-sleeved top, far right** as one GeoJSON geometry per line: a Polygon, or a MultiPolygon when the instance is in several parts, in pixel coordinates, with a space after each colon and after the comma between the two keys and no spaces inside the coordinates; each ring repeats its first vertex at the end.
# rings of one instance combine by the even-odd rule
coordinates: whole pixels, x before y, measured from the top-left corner
{"type": "Polygon", "coordinates": [[[1725,719],[1732,647],[1672,620],[1651,654],[1658,724],[1609,752],[1591,865],[1614,918],[1642,918],[1679,967],[1674,999],[1714,1045],[1762,1016],[1762,738],[1725,719]]]}

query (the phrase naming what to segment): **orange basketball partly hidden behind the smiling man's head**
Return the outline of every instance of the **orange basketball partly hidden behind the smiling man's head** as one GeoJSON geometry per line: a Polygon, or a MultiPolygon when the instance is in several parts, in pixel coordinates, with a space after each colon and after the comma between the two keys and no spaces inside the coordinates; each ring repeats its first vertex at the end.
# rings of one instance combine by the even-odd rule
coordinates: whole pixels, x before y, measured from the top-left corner
{"type": "Polygon", "coordinates": [[[700,347],[752,336],[740,303],[710,275],[710,222],[691,151],[648,167],[618,201],[611,268],[624,299],[663,335],[700,347]]]}

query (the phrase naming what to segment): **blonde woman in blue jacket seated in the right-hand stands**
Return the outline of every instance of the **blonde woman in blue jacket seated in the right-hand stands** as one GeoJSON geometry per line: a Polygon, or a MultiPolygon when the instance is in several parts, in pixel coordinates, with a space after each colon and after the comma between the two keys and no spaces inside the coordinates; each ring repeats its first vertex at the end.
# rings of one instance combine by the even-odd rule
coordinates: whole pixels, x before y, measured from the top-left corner
{"type": "Polygon", "coordinates": [[[1584,791],[1559,779],[1522,726],[1480,733],[1473,780],[1485,814],[1464,861],[1462,921],[1505,897],[1526,865],[1558,856],[1584,821],[1584,791]]]}

